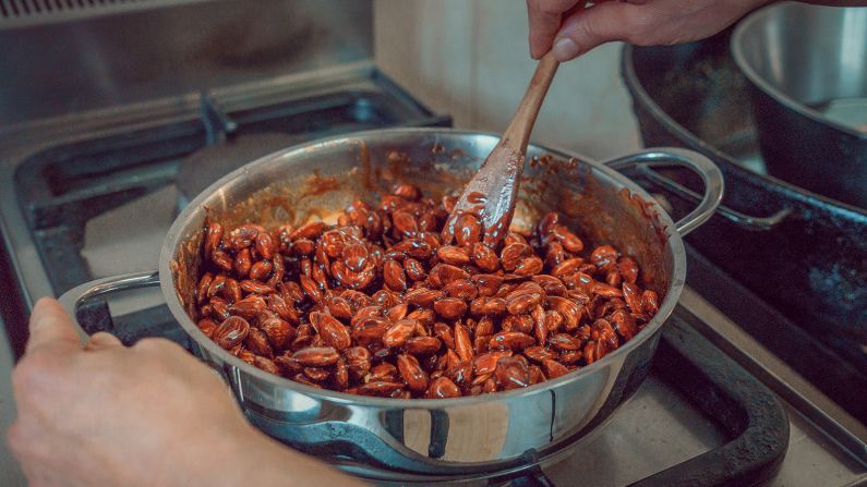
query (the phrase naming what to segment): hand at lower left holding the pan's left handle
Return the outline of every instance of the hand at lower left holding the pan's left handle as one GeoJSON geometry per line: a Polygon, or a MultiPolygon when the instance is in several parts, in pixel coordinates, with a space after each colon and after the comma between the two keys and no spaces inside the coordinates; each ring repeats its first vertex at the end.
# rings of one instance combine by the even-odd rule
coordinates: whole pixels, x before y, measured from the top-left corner
{"type": "Polygon", "coordinates": [[[32,486],[358,485],[248,424],[229,389],[177,344],[84,348],[50,299],[36,303],[12,374],[9,445],[32,486]]]}

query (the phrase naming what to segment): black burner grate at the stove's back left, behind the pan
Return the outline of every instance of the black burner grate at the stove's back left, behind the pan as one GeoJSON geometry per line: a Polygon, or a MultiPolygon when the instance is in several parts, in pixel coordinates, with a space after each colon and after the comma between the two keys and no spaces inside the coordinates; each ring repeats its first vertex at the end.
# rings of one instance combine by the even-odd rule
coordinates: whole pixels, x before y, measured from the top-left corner
{"type": "Polygon", "coordinates": [[[112,208],[173,183],[192,198],[234,167],[302,141],[450,125],[449,117],[432,114],[378,72],[362,76],[316,96],[289,94],[233,111],[203,94],[197,119],[63,144],[24,159],[15,169],[17,197],[56,293],[93,279],[80,252],[84,226],[112,208]]]}

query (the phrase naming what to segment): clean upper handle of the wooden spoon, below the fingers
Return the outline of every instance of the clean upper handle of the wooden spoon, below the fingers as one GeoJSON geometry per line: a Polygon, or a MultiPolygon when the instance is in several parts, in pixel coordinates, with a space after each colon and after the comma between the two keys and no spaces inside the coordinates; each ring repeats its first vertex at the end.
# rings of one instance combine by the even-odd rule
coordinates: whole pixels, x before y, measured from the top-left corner
{"type": "Polygon", "coordinates": [[[559,62],[554,59],[554,54],[549,51],[539,64],[535,66],[533,77],[530,78],[530,86],[523,94],[518,110],[511,119],[506,132],[503,133],[503,145],[515,150],[516,153],[523,153],[527,144],[530,142],[530,132],[533,130],[535,118],[539,114],[539,108],[545,99],[551,81],[554,78],[554,73],[557,72],[559,62]]]}

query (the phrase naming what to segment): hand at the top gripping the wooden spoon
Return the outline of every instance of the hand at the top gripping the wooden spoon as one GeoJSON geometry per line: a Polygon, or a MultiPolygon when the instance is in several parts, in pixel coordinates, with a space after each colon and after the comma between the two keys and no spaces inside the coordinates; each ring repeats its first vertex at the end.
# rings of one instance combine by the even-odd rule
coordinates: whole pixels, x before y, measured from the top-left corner
{"type": "Polygon", "coordinates": [[[568,61],[594,47],[624,40],[658,46],[703,39],[770,0],[527,0],[530,53],[554,51],[568,61]]]}

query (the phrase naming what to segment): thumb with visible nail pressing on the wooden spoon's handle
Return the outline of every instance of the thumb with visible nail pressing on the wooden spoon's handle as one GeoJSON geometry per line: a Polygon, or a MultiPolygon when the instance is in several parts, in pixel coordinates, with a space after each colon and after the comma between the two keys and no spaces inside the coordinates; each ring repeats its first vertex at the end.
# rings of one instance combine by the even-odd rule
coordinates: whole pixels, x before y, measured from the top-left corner
{"type": "Polygon", "coordinates": [[[564,62],[612,40],[629,40],[643,32],[647,19],[645,5],[625,2],[603,2],[575,12],[556,34],[554,57],[564,62]]]}

